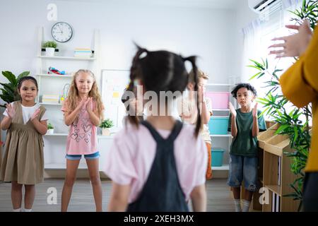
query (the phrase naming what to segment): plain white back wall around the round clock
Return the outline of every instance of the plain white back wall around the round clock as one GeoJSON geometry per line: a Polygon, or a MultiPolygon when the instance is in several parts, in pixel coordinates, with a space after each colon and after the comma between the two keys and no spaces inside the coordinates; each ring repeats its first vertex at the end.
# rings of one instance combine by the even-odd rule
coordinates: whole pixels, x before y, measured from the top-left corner
{"type": "MultiPolygon", "coordinates": [[[[134,5],[127,1],[0,1],[0,70],[35,73],[37,27],[51,40],[47,4],[57,4],[58,20],[73,26],[74,37],[60,48],[90,47],[93,29],[100,29],[102,69],[129,69],[133,41],[148,49],[196,54],[199,66],[218,83],[234,73],[235,11],[134,5]],[[25,6],[28,4],[28,6],[25,6]]],[[[4,81],[1,78],[0,81],[4,81]]]]}

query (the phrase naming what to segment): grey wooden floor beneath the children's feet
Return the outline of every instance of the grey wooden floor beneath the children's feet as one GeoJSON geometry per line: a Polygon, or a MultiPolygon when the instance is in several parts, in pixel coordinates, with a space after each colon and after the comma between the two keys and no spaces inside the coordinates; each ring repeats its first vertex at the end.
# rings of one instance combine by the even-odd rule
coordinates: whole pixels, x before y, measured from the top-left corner
{"type": "MultiPolygon", "coordinates": [[[[60,210],[61,190],[64,179],[45,179],[45,182],[36,186],[35,203],[33,211],[54,212],[60,210]],[[48,204],[52,201],[52,190],[57,191],[57,204],[48,204]],[[49,193],[48,193],[49,191],[49,193]]],[[[229,212],[234,211],[234,205],[230,196],[230,189],[226,185],[226,179],[211,179],[206,182],[208,212],[229,212]]],[[[110,200],[110,181],[102,181],[103,210],[107,210],[110,200]]],[[[11,204],[11,184],[0,182],[0,212],[12,210],[11,204]]],[[[69,211],[90,212],[95,211],[93,191],[89,180],[78,179],[73,187],[69,211]]]]}

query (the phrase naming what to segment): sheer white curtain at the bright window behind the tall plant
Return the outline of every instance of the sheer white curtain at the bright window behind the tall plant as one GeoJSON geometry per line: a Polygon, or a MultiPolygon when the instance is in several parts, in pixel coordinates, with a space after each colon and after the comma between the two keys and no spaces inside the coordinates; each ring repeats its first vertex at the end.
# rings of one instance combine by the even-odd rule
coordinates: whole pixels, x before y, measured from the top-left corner
{"type": "Polygon", "coordinates": [[[269,77],[263,77],[260,79],[253,79],[249,81],[255,73],[256,69],[247,67],[252,65],[253,59],[262,62],[261,59],[268,60],[269,72],[273,71],[273,68],[277,66],[279,69],[288,69],[293,64],[293,59],[274,59],[274,56],[269,56],[268,47],[273,44],[273,37],[280,37],[290,35],[290,31],[285,28],[287,24],[293,24],[290,18],[293,14],[288,12],[294,11],[295,8],[300,8],[302,0],[282,0],[278,1],[276,6],[271,7],[271,11],[262,13],[259,19],[252,21],[246,28],[242,29],[244,35],[244,49],[243,49],[243,64],[242,75],[240,81],[249,82],[257,88],[258,96],[264,97],[267,89],[264,88],[264,81],[269,81],[269,77]]]}

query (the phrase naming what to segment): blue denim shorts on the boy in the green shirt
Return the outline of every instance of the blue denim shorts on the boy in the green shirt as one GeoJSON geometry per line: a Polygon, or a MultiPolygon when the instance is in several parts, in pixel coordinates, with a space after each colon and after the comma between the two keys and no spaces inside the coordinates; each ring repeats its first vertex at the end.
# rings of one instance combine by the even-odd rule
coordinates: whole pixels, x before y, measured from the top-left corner
{"type": "Polygon", "coordinates": [[[230,154],[230,172],[228,175],[228,186],[240,187],[244,179],[245,189],[257,190],[257,168],[258,157],[245,157],[230,154]]]}

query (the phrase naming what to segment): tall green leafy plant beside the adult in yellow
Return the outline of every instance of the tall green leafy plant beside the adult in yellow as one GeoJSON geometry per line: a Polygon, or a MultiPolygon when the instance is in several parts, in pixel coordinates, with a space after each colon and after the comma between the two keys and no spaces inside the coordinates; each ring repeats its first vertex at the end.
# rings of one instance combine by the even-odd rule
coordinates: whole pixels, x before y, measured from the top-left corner
{"type": "MultiPolygon", "coordinates": [[[[301,24],[303,20],[309,19],[310,25],[314,29],[318,18],[318,1],[303,0],[301,8],[290,12],[295,16],[295,18],[290,19],[291,21],[301,24]]],[[[296,175],[295,181],[290,184],[293,193],[285,196],[292,197],[293,200],[300,200],[298,208],[300,210],[302,205],[302,186],[305,179],[304,169],[310,150],[311,136],[309,121],[312,119],[312,105],[299,109],[283,96],[279,83],[279,73],[283,71],[282,69],[275,67],[273,71],[269,71],[267,59],[265,61],[262,59],[261,62],[252,59],[250,61],[252,65],[249,65],[249,67],[257,69],[257,73],[250,79],[261,78],[263,76],[268,78],[265,81],[265,87],[269,91],[266,93],[266,97],[258,98],[258,101],[265,107],[262,114],[268,115],[273,121],[281,125],[276,134],[287,134],[290,138],[290,146],[295,150],[293,153],[284,153],[292,158],[290,170],[296,175]],[[300,119],[301,115],[305,115],[305,121],[300,119]]]]}

